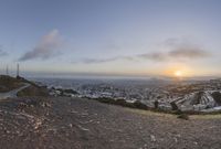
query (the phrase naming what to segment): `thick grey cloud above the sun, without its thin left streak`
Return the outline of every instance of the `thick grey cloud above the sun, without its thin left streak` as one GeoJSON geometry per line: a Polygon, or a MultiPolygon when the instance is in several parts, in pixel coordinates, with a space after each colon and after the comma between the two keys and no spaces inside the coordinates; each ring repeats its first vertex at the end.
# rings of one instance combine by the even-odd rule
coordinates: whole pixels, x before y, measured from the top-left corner
{"type": "Polygon", "coordinates": [[[186,39],[168,39],[162,43],[164,52],[145,53],[138,55],[140,58],[165,62],[165,61],[190,61],[210,57],[211,53],[202,46],[193,44],[186,39]]]}

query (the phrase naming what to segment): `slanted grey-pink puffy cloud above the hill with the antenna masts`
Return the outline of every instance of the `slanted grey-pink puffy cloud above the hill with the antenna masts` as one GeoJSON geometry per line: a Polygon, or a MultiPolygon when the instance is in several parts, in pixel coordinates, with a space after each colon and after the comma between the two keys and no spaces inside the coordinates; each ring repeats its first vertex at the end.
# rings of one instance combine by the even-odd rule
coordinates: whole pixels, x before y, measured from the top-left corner
{"type": "Polygon", "coordinates": [[[28,61],[34,58],[46,60],[59,55],[63,41],[57,30],[53,30],[44,35],[32,51],[24,53],[19,61],[28,61]]]}

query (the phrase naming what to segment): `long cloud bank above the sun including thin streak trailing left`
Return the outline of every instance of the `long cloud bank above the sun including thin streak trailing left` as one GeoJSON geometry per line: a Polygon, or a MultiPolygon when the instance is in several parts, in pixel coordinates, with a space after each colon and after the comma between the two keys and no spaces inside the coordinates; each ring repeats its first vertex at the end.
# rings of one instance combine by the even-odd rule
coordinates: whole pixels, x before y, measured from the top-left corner
{"type": "Polygon", "coordinates": [[[186,62],[210,57],[211,53],[207,52],[202,46],[192,44],[186,39],[168,39],[162,44],[165,51],[143,53],[131,56],[115,56],[108,58],[85,58],[81,63],[106,63],[118,60],[125,61],[152,61],[152,62],[186,62]]]}

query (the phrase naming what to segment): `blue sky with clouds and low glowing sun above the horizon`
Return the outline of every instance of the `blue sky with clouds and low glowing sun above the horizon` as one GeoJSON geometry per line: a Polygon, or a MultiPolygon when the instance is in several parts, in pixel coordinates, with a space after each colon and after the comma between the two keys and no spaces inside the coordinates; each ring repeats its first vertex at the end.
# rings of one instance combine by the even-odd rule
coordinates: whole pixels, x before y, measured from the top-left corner
{"type": "Polygon", "coordinates": [[[0,73],[220,76],[220,0],[1,0],[0,73]]]}

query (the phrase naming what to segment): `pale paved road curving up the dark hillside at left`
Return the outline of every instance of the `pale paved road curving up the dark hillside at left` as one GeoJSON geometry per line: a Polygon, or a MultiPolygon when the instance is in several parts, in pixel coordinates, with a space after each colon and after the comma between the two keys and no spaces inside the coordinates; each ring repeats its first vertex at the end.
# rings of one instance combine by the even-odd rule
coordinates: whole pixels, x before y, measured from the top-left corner
{"type": "Polygon", "coordinates": [[[6,99],[6,98],[14,98],[17,97],[17,93],[29,87],[30,84],[25,83],[24,86],[21,86],[17,89],[13,89],[13,91],[10,91],[10,92],[7,92],[7,93],[0,93],[0,99],[6,99]]]}

